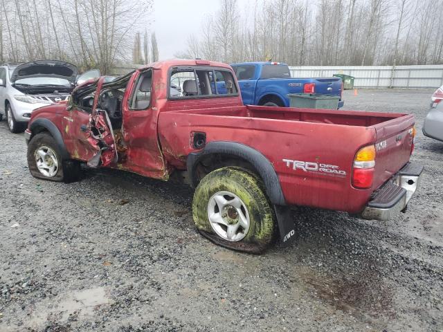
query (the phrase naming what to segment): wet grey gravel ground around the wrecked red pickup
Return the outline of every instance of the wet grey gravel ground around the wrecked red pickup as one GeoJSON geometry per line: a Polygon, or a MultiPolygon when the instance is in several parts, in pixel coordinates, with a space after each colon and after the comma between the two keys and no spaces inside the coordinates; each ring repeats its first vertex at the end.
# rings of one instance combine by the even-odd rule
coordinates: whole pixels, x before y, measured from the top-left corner
{"type": "Polygon", "coordinates": [[[195,231],[192,190],[109,169],[72,184],[26,167],[0,122],[0,331],[443,331],[443,143],[432,91],[345,92],[345,109],[415,113],[426,168],[388,223],[299,208],[261,256],[195,231]]]}

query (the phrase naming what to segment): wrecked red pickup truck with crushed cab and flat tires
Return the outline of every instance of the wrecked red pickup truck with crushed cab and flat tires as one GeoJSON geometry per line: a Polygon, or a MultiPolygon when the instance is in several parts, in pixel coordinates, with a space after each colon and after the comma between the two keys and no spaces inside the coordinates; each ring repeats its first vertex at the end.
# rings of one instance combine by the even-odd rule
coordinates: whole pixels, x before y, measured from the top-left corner
{"type": "Polygon", "coordinates": [[[25,136],[37,178],[75,181],[81,162],[178,174],[201,234],[248,252],[294,238],[291,205],[387,220],[423,169],[409,163],[412,115],[244,106],[232,68],[199,59],[86,82],[34,111],[25,136]]]}

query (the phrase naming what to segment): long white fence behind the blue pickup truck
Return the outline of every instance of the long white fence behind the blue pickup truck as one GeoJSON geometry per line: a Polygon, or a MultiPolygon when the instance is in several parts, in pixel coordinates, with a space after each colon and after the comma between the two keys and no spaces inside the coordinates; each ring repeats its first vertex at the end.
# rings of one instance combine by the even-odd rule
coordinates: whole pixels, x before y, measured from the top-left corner
{"type": "Polygon", "coordinates": [[[292,77],[355,77],[361,88],[437,88],[443,85],[443,64],[423,66],[290,66],[292,77]]]}

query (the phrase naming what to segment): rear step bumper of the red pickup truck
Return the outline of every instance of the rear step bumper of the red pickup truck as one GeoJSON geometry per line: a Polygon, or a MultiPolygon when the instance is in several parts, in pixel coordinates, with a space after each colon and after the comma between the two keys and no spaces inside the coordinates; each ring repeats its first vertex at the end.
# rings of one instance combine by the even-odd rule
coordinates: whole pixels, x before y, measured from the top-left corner
{"type": "Polygon", "coordinates": [[[386,221],[406,209],[417,190],[423,166],[408,163],[372,195],[361,218],[386,221]]]}

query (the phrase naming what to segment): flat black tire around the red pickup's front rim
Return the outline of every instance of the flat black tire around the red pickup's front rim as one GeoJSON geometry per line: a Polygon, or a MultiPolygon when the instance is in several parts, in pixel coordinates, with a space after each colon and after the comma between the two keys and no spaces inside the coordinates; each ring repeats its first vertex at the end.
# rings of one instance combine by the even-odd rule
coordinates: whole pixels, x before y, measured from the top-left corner
{"type": "MultiPolygon", "coordinates": [[[[56,182],[73,182],[78,181],[80,177],[80,163],[76,160],[66,160],[62,158],[62,154],[60,152],[60,148],[55,142],[53,136],[51,136],[48,132],[37,133],[33,138],[31,138],[28,144],[28,168],[29,172],[35,178],[43,178],[45,180],[56,181],[56,182]],[[37,167],[36,154],[37,150],[46,148],[46,151],[51,150],[51,154],[55,156],[55,161],[57,163],[57,169],[54,175],[51,174],[43,174],[40,172],[37,167]]],[[[51,158],[49,160],[51,163],[54,163],[54,160],[51,158]]]]}

